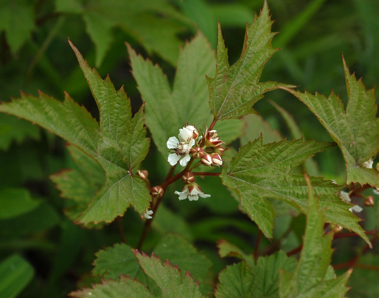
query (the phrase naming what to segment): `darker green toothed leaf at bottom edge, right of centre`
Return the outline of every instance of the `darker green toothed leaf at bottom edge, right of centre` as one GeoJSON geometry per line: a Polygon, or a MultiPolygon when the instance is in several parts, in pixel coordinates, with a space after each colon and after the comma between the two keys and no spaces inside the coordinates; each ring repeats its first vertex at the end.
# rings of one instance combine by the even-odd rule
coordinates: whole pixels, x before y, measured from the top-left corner
{"type": "Polygon", "coordinates": [[[279,272],[293,272],[296,260],[280,251],[260,257],[257,264],[244,261],[228,266],[219,275],[216,298],[229,297],[278,297],[279,272]]]}

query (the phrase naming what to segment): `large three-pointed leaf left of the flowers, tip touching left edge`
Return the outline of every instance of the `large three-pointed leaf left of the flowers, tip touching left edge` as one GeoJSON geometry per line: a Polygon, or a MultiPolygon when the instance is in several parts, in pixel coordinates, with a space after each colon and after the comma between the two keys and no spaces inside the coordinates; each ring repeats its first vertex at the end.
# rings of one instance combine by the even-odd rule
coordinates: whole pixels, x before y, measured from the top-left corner
{"type": "Polygon", "coordinates": [[[111,222],[132,205],[144,213],[150,195],[145,182],[131,170],[146,156],[149,139],[143,127],[143,106],[132,118],[130,100],[121,88],[115,90],[109,77],[102,80],[71,44],[100,111],[100,125],[83,106],[66,94],[59,102],[40,92],[39,97],[21,94],[21,99],[0,106],[7,112],[57,134],[83,150],[102,166],[106,182],[78,221],[111,222]]]}

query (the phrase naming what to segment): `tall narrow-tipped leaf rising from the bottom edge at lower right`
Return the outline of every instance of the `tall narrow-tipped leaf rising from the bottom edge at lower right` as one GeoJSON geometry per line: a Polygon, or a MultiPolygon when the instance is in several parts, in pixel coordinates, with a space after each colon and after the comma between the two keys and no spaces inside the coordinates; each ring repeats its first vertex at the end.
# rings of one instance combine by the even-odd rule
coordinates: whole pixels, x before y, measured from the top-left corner
{"type": "Polygon", "coordinates": [[[281,273],[279,297],[342,298],[348,290],[346,282],[351,271],[335,278],[329,265],[333,234],[324,235],[324,209],[320,209],[309,180],[307,184],[309,210],[303,249],[294,273],[281,273]]]}

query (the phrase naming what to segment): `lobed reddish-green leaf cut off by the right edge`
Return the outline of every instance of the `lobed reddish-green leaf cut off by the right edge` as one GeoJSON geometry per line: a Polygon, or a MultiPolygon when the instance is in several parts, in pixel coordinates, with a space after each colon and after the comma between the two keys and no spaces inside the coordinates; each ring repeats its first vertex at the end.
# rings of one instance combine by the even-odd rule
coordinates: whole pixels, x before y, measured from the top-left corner
{"type": "Polygon", "coordinates": [[[316,115],[341,149],[346,163],[347,184],[360,183],[379,185],[379,175],[373,169],[363,166],[379,151],[379,119],[374,89],[366,91],[362,81],[350,75],[343,60],[348,104],[346,111],[338,95],[329,97],[316,93],[301,93],[286,88],[300,99],[316,115]]]}

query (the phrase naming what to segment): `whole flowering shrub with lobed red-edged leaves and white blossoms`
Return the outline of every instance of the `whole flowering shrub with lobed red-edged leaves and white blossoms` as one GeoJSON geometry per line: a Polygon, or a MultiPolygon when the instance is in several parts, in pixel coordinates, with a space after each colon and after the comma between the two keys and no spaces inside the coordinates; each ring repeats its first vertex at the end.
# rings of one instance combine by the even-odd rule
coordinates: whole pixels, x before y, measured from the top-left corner
{"type": "MultiPolygon", "coordinates": [[[[361,80],[356,80],[344,59],[346,109],[334,93],[325,97],[297,91],[296,85],[261,82],[264,65],[278,50],[271,45],[275,35],[272,23],[264,2],[260,15],[246,27],[241,56],[233,65],[228,61],[220,24],[216,55],[207,39],[197,33],[179,52],[172,88],[158,65],[126,43],[143,101],[134,113],[124,88],[116,90],[109,77],[103,80],[71,41],[95,98],[98,119],[68,93],[63,102],[39,92],[38,97],[21,93],[21,98],[1,104],[1,112],[37,124],[68,142],[72,169],[50,178],[69,202],[64,212],[71,221],[95,230],[112,222],[120,226],[121,243],[106,244],[108,247],[96,253],[92,274],[102,281],[84,283],[70,296],[345,297],[352,270],[336,274],[338,268],[331,265],[332,240],[360,236],[367,250],[377,238],[376,231],[366,232],[358,224],[361,219],[355,213],[363,208],[351,204],[352,198],[360,198],[360,205],[369,208],[374,197],[363,191],[379,192],[379,169],[373,169],[379,151],[374,90],[367,91],[361,80]],[[266,138],[275,138],[273,130],[260,128],[257,138],[246,140],[245,136],[236,150],[244,126],[263,125],[250,123],[246,115],[257,114],[253,106],[267,92],[278,89],[308,106],[334,142],[302,137],[267,142],[266,138]],[[150,136],[160,154],[156,165],[144,162],[153,146],[150,136]],[[317,152],[335,146],[345,160],[345,185],[310,175],[314,163],[305,163],[317,152]],[[235,199],[241,213],[254,223],[249,229],[258,228],[249,253],[245,246],[239,247],[238,240],[215,239],[219,256],[233,257],[225,268],[198,251],[191,237],[180,235],[183,221],[167,208],[206,201],[217,210],[224,202],[218,200],[222,195],[218,187],[221,192],[226,187],[232,194],[227,199],[235,199]],[[186,203],[187,199],[191,202],[186,203]],[[263,237],[271,241],[273,231],[279,229],[278,216],[300,218],[301,213],[307,219],[297,249],[285,252],[275,241],[260,249],[263,237]],[[130,241],[122,229],[123,216],[132,222],[143,221],[142,229],[128,226],[135,235],[130,241]],[[341,233],[343,229],[349,232],[341,233]],[[158,241],[152,230],[167,233],[158,241]],[[299,258],[294,257],[297,253],[299,258]],[[219,272],[210,272],[212,265],[219,272]]],[[[273,105],[288,126],[298,129],[282,107],[273,105]]],[[[233,222],[232,217],[225,220],[233,222]]],[[[291,230],[288,226],[285,233],[291,230]]],[[[201,237],[195,240],[201,241],[201,237]]]]}

